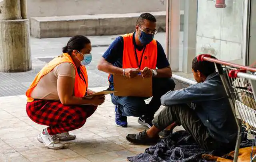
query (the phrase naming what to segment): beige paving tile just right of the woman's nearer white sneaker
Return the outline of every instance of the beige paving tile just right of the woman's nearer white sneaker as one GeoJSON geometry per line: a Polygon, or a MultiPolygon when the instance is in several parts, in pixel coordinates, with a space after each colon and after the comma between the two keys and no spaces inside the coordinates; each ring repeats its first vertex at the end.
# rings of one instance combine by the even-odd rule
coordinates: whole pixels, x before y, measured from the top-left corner
{"type": "Polygon", "coordinates": [[[76,142],[70,144],[68,148],[81,156],[124,149],[124,147],[106,139],[76,142]]]}

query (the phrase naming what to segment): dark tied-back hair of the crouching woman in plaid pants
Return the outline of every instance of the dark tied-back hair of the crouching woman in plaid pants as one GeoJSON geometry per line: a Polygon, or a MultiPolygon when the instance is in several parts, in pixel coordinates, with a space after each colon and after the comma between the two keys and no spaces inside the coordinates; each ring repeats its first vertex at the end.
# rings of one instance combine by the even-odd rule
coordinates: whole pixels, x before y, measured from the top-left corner
{"type": "Polygon", "coordinates": [[[67,45],[62,48],[62,52],[71,55],[73,50],[77,50],[80,52],[80,50],[89,43],[91,43],[91,41],[87,37],[83,35],[75,35],[74,37],[71,37],[67,45]]]}

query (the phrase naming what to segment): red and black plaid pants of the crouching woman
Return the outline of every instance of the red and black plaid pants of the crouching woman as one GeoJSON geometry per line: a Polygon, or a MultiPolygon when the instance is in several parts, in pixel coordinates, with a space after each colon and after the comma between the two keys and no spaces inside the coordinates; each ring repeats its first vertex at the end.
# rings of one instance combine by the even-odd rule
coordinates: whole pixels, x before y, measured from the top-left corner
{"type": "Polygon", "coordinates": [[[98,106],[63,105],[60,101],[34,100],[26,105],[30,119],[47,125],[49,135],[56,135],[82,127],[98,106]]]}

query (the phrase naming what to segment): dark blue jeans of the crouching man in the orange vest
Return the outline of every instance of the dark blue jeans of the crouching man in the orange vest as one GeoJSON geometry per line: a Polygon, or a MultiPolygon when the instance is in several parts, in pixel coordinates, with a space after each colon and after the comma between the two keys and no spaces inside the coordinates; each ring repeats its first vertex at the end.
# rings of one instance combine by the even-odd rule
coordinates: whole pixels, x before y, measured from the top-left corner
{"type": "Polygon", "coordinates": [[[160,98],[170,90],[174,90],[175,82],[171,78],[153,78],[153,98],[146,104],[144,97],[121,97],[112,94],[112,103],[119,106],[118,111],[122,116],[140,117],[145,115],[154,118],[154,114],[161,105],[160,98]]]}

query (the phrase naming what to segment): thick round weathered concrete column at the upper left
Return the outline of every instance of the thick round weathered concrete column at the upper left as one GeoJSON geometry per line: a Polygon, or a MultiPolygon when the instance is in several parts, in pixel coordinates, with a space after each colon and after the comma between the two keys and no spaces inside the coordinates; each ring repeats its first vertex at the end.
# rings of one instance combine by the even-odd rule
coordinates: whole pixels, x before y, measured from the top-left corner
{"type": "Polygon", "coordinates": [[[0,72],[31,70],[30,29],[24,0],[0,0],[0,72]],[[21,10],[22,9],[22,10],[21,10]]]}

